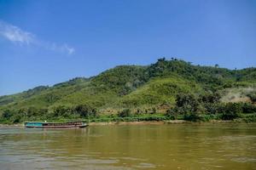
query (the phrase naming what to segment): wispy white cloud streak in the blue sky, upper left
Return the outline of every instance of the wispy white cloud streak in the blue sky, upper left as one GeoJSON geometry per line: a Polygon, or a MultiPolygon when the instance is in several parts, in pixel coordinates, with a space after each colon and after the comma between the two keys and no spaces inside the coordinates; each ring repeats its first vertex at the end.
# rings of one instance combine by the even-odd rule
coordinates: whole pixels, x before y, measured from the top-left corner
{"type": "Polygon", "coordinates": [[[70,47],[67,43],[56,44],[55,42],[45,42],[39,40],[31,32],[23,31],[17,26],[12,26],[4,21],[0,20],[0,37],[4,37],[10,42],[18,43],[20,45],[35,45],[40,48],[60,52],[64,54],[73,54],[75,48],[70,47]]]}

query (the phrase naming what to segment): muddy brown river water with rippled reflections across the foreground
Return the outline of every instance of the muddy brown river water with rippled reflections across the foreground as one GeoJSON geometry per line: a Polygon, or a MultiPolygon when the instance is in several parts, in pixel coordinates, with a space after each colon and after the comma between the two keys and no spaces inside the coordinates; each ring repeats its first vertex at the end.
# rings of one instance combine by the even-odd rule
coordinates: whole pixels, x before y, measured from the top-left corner
{"type": "Polygon", "coordinates": [[[256,169],[256,124],[0,129],[0,169],[256,169]]]}

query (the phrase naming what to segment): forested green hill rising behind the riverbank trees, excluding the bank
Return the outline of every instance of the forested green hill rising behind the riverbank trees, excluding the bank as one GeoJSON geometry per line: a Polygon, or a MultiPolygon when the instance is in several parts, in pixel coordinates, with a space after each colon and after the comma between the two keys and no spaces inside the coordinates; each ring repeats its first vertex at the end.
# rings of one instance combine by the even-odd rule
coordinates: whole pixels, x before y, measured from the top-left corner
{"type": "MultiPolygon", "coordinates": [[[[78,113],[116,114],[166,112],[183,99],[198,102],[255,104],[256,68],[229,70],[192,65],[180,59],[158,59],[152,65],[120,65],[96,77],[77,77],[52,87],[40,86],[0,97],[1,120],[20,122],[40,116],[68,117],[78,113]],[[190,99],[192,96],[193,99],[190,99]]],[[[182,107],[191,104],[183,102],[182,107]]],[[[202,111],[208,104],[202,105],[202,111]]],[[[198,108],[197,108],[198,109],[198,108]]],[[[189,110],[190,112],[192,110],[189,110]]],[[[199,110],[196,110],[199,111],[199,110]]]]}

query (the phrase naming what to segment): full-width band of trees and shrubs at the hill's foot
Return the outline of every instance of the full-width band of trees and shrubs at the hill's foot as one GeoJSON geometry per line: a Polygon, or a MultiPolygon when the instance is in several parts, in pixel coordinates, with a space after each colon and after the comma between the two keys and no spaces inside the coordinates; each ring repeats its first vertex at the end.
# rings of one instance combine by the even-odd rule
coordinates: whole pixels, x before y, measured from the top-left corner
{"type": "MultiPolygon", "coordinates": [[[[5,110],[0,116],[1,123],[19,123],[25,121],[43,120],[77,120],[87,119],[92,122],[119,121],[165,121],[183,119],[187,121],[208,121],[210,119],[234,120],[245,114],[256,113],[256,105],[251,103],[222,103],[220,94],[204,95],[177,94],[176,105],[166,113],[158,113],[157,108],[123,109],[115,115],[99,115],[96,108],[90,105],[59,105],[47,108],[22,108],[20,110],[5,110]]],[[[253,114],[255,115],[255,114],[253,114]]],[[[253,116],[253,122],[256,117],[253,116]]],[[[250,121],[252,122],[252,121],[250,121]]]]}

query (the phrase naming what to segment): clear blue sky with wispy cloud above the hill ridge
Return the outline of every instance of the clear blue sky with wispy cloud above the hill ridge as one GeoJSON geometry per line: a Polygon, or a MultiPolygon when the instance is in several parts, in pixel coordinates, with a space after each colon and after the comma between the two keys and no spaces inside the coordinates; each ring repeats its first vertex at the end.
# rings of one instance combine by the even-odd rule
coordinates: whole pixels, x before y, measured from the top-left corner
{"type": "Polygon", "coordinates": [[[0,95],[163,56],[256,66],[256,1],[0,0],[0,95]]]}

